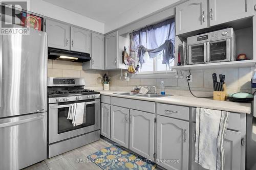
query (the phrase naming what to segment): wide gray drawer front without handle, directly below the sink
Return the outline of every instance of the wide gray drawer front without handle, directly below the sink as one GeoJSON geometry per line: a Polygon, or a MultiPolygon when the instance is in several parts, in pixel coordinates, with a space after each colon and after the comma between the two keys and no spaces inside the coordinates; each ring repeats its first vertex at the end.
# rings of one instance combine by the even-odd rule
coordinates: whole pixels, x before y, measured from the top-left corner
{"type": "Polygon", "coordinates": [[[155,113],[155,102],[112,97],[111,105],[155,113]]]}

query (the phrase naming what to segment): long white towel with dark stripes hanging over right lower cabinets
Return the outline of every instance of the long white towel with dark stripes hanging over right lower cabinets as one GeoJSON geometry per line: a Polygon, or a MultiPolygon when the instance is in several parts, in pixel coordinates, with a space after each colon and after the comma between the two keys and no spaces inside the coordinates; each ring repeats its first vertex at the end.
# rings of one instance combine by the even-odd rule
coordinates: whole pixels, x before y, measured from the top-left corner
{"type": "Polygon", "coordinates": [[[197,108],[195,162],[210,170],[223,170],[223,142],[229,112],[197,108]]]}

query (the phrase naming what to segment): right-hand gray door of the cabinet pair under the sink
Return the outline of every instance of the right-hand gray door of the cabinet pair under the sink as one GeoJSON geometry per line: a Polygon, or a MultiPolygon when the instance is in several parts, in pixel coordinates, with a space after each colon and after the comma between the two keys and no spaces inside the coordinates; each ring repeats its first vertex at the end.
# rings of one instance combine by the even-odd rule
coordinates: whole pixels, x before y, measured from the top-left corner
{"type": "Polygon", "coordinates": [[[130,110],[130,150],[154,160],[154,118],[153,113],[130,110]]]}

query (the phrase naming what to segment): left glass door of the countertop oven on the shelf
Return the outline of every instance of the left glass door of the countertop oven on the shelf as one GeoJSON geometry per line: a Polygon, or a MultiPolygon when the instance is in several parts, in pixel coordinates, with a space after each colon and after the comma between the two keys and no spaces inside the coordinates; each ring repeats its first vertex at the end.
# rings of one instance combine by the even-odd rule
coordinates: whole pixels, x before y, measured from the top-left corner
{"type": "Polygon", "coordinates": [[[207,59],[207,45],[205,43],[188,45],[188,64],[202,64],[207,59]]]}

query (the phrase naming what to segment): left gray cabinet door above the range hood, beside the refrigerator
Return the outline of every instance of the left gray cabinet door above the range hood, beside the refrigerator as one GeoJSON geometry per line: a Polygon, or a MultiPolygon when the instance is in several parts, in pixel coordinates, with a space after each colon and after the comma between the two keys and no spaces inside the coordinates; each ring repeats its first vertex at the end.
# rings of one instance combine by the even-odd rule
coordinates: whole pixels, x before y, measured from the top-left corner
{"type": "Polygon", "coordinates": [[[70,50],[70,26],[47,19],[48,46],[70,50]]]}

